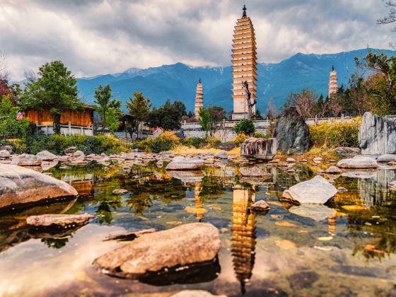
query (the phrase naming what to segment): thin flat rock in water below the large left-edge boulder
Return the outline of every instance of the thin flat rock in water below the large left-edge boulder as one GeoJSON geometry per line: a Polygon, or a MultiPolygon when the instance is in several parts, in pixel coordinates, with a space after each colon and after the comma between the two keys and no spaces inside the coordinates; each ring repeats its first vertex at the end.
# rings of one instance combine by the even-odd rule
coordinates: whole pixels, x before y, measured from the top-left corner
{"type": "Polygon", "coordinates": [[[36,227],[82,225],[95,218],[92,214],[43,214],[28,216],[26,223],[36,227]]]}

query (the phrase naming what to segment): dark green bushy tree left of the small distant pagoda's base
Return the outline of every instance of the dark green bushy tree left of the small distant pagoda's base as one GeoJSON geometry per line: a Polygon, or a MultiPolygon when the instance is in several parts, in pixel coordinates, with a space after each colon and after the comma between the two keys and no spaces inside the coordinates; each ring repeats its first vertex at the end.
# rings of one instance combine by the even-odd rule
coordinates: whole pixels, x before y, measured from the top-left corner
{"type": "Polygon", "coordinates": [[[166,100],[161,107],[153,108],[148,117],[148,125],[150,127],[160,127],[164,130],[180,129],[182,115],[179,107],[178,104],[171,104],[169,99],[166,100]]]}

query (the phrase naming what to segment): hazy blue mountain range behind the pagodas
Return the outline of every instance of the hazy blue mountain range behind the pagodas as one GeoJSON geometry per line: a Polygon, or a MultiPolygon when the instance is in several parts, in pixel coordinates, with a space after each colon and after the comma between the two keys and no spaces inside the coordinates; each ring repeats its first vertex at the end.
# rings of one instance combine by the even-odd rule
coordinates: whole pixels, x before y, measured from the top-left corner
{"type": "MultiPolygon", "coordinates": [[[[382,50],[374,50],[378,52],[382,50]]],[[[348,78],[355,71],[354,57],[368,52],[354,50],[339,54],[295,54],[277,64],[257,65],[257,107],[267,110],[269,98],[276,107],[281,107],[291,92],[313,88],[319,95],[327,95],[327,83],[332,65],[337,70],[339,86],[348,84],[348,78]]],[[[396,51],[384,50],[396,55],[396,51]]],[[[105,74],[92,78],[78,78],[78,88],[86,103],[93,103],[93,91],[100,84],[110,84],[115,98],[122,101],[134,91],[143,92],[151,98],[154,107],[171,101],[181,100],[187,110],[194,110],[195,88],[199,78],[204,84],[204,106],[220,105],[230,111],[231,67],[190,67],[182,63],[163,65],[148,69],[128,69],[118,74],[105,74]]]]}

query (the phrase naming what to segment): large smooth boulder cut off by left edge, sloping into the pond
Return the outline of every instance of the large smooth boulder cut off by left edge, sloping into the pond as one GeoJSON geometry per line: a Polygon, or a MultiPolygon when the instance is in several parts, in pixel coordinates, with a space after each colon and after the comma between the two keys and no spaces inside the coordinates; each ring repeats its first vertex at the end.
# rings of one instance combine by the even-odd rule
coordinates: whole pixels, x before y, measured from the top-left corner
{"type": "Polygon", "coordinates": [[[16,165],[0,165],[0,208],[77,194],[62,180],[16,165]]]}

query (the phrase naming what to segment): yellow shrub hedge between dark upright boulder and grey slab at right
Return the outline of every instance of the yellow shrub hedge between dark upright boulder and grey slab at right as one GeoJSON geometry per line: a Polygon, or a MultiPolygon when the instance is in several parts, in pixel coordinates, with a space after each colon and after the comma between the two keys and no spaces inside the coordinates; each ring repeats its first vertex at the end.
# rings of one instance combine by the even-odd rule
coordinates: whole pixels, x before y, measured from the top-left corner
{"type": "Polygon", "coordinates": [[[359,146],[359,127],[361,118],[355,118],[352,122],[322,122],[316,126],[310,125],[310,137],[313,146],[327,146],[334,148],[337,146],[359,146]]]}

